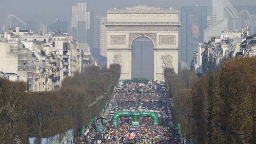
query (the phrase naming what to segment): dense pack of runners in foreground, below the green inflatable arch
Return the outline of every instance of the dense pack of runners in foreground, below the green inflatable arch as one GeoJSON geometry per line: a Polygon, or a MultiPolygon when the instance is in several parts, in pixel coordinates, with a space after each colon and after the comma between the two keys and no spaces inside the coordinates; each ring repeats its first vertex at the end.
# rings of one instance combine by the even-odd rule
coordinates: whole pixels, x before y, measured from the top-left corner
{"type": "Polygon", "coordinates": [[[130,133],[132,126],[130,121],[124,121],[119,128],[114,129],[112,125],[109,127],[108,134],[105,135],[105,143],[180,143],[180,137],[176,129],[164,126],[152,125],[151,118],[140,118],[140,126],[135,132],[134,140],[128,139],[127,134],[130,133]],[[173,137],[175,135],[175,137],[173,137]]]}

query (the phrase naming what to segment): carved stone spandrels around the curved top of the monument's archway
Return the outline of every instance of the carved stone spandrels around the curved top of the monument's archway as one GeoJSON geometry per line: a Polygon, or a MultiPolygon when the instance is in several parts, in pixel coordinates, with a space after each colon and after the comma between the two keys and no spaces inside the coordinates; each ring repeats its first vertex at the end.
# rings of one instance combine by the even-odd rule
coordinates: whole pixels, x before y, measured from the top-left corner
{"type": "Polygon", "coordinates": [[[154,45],[154,48],[156,48],[156,33],[129,33],[129,48],[131,48],[134,40],[140,37],[147,37],[150,39],[154,45]]]}

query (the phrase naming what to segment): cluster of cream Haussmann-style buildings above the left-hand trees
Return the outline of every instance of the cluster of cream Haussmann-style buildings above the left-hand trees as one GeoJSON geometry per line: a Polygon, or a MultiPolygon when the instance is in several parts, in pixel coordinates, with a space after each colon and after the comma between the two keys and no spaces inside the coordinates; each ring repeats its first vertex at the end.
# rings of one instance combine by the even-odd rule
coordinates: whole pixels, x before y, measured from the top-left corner
{"type": "Polygon", "coordinates": [[[26,81],[28,91],[58,89],[65,77],[82,71],[82,50],[68,33],[9,29],[1,35],[0,49],[0,69],[26,81]]]}

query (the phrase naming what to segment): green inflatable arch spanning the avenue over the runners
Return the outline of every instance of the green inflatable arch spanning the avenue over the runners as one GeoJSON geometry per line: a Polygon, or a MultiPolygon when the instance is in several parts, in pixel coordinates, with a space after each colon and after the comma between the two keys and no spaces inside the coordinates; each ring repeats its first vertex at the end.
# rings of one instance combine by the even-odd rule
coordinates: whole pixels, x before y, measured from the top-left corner
{"type": "Polygon", "coordinates": [[[131,116],[134,121],[137,121],[137,119],[142,116],[142,117],[151,117],[153,119],[153,125],[159,125],[159,117],[156,113],[154,112],[147,112],[147,111],[119,111],[116,112],[113,115],[113,125],[115,128],[118,126],[118,119],[120,117],[129,117],[131,116]]]}

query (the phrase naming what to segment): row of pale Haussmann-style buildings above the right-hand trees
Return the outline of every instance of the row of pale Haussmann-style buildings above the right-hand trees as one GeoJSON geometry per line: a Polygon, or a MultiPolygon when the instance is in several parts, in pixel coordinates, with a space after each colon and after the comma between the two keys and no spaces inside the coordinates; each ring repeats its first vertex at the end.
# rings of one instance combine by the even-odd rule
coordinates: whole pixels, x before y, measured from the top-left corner
{"type": "Polygon", "coordinates": [[[256,56],[256,35],[243,32],[222,31],[208,43],[200,44],[191,61],[195,73],[208,73],[218,69],[224,61],[238,56],[256,56]]]}

